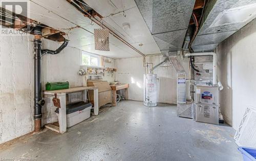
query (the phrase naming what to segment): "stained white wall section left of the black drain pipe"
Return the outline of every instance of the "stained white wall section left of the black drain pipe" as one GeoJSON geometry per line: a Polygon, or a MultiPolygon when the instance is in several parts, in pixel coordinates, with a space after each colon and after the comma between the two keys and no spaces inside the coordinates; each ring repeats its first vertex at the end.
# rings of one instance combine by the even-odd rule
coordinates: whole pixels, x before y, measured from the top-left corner
{"type": "Polygon", "coordinates": [[[0,143],[33,129],[33,42],[0,36],[0,143]]]}

